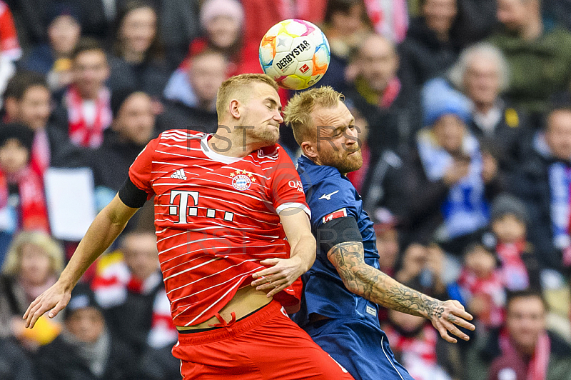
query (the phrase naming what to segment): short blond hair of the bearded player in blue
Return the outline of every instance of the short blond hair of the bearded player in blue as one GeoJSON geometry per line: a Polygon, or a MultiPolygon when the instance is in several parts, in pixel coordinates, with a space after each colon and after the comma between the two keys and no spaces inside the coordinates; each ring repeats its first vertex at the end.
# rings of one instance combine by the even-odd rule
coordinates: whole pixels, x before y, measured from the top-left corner
{"type": "Polygon", "coordinates": [[[311,113],[316,108],[337,106],[345,97],[330,86],[315,87],[295,94],[285,106],[285,123],[293,129],[293,137],[301,146],[303,141],[314,141],[315,131],[311,113]]]}

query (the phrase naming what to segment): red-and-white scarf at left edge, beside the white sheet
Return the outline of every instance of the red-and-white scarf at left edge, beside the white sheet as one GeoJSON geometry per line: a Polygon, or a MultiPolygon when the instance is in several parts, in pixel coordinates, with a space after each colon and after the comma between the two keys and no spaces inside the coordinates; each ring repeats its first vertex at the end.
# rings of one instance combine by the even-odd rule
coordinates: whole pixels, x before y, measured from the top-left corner
{"type": "Polygon", "coordinates": [[[8,202],[8,183],[18,184],[19,229],[39,230],[49,233],[48,210],[41,178],[29,166],[17,174],[0,171],[0,208],[8,202]]]}

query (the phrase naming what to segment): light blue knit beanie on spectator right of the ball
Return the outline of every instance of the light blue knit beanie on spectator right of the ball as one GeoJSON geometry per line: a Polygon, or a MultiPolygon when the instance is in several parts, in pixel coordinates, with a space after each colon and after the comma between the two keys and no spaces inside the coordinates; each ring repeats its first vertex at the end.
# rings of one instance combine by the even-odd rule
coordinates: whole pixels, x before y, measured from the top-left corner
{"type": "Polygon", "coordinates": [[[432,126],[442,116],[453,114],[465,123],[470,121],[471,102],[441,78],[431,79],[422,91],[424,126],[432,126]]]}

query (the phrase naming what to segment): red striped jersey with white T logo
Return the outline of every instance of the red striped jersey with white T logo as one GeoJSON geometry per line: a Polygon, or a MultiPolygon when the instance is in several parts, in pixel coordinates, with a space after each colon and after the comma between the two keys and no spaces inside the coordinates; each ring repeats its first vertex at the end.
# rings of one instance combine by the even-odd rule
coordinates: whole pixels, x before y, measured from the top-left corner
{"type": "MultiPolygon", "coordinates": [[[[161,271],[177,326],[216,314],[236,291],[249,286],[259,261],[286,259],[278,212],[310,214],[293,163],[278,144],[243,159],[208,149],[208,134],[163,132],[149,142],[129,177],[155,196],[155,228],[161,271]]],[[[274,298],[298,304],[299,289],[274,298]]]]}

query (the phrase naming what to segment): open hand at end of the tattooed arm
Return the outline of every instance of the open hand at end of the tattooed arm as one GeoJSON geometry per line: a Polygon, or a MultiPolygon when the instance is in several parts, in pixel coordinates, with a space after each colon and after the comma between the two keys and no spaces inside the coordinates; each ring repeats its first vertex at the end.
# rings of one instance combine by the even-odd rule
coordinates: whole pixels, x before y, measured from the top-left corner
{"type": "Polygon", "coordinates": [[[448,334],[448,332],[451,332],[455,336],[468,341],[470,337],[460,331],[455,325],[473,331],[475,326],[468,322],[473,319],[473,316],[468,314],[468,312],[464,310],[464,306],[456,300],[437,302],[438,304],[435,305],[428,319],[430,319],[434,328],[440,332],[440,336],[442,336],[445,341],[456,343],[458,340],[448,334]]]}

